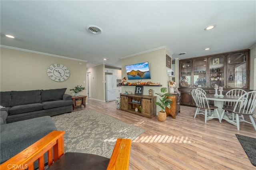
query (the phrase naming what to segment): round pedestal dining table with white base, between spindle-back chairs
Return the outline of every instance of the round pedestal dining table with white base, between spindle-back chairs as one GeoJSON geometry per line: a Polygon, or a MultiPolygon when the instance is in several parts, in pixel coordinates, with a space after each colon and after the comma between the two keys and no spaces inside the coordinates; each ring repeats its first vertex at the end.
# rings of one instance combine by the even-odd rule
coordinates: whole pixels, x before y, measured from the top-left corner
{"type": "MultiPolygon", "coordinates": [[[[223,105],[225,101],[230,101],[230,102],[236,102],[238,101],[240,96],[234,96],[234,95],[222,95],[222,96],[216,96],[214,94],[206,94],[206,97],[208,100],[212,100],[214,101],[214,106],[218,107],[218,112],[219,115],[221,117],[222,115],[222,111],[223,111],[223,105]]],[[[214,114],[211,115],[210,119],[214,119],[218,117],[217,113],[214,111],[214,114]]],[[[232,122],[227,115],[224,114],[223,118],[224,120],[226,120],[228,123],[231,123],[233,125],[236,125],[234,122],[232,122]]],[[[221,121],[221,120],[220,120],[221,121]]]]}

